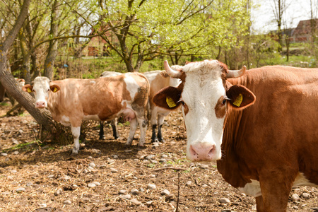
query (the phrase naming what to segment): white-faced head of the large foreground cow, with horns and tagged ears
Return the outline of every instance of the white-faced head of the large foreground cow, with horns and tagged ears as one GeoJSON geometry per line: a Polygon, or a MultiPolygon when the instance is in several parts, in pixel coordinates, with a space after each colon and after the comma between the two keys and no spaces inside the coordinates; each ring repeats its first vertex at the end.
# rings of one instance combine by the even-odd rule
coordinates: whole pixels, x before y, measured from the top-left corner
{"type": "Polygon", "coordinates": [[[193,62],[175,71],[167,61],[165,71],[182,80],[178,88],[167,87],[153,98],[155,105],[175,110],[182,106],[187,129],[187,159],[219,160],[227,107],[242,110],[254,103],[254,94],[244,86],[232,86],[226,78],[245,73],[229,71],[217,60],[193,62]]]}

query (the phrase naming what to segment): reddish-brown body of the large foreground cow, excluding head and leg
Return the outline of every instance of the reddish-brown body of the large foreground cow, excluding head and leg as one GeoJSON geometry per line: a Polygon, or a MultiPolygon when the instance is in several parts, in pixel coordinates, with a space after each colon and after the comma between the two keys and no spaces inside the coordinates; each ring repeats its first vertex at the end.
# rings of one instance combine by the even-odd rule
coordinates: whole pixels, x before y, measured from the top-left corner
{"type": "Polygon", "coordinates": [[[224,179],[234,187],[261,180],[262,192],[274,196],[289,194],[298,172],[318,184],[318,69],[265,66],[228,81],[257,101],[228,110],[218,160],[224,179]]]}

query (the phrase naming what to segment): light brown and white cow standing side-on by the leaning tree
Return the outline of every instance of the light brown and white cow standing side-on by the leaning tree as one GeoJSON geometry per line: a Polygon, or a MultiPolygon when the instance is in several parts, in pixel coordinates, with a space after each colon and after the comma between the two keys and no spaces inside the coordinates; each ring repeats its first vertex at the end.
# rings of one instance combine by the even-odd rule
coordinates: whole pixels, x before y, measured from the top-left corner
{"type": "Polygon", "coordinates": [[[37,77],[33,86],[25,85],[23,90],[35,93],[35,107],[47,107],[55,121],[71,126],[74,139],[72,153],[79,150],[78,138],[83,120],[111,120],[122,115],[130,122],[126,145],[131,145],[139,124],[141,136],[139,146],[146,139],[148,120],[146,105],[149,83],[140,73],[124,73],[119,76],[49,81],[47,77],[37,77]]]}

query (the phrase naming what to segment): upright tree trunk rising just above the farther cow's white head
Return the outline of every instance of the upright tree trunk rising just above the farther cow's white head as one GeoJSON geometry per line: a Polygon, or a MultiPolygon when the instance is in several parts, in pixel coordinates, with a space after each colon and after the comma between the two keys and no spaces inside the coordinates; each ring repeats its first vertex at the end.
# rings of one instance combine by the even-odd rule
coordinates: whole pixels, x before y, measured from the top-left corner
{"type": "MultiPolygon", "coordinates": [[[[57,29],[58,29],[58,4],[57,0],[54,1],[52,6],[52,13],[51,13],[51,32],[50,36],[57,37],[57,29]]],[[[45,59],[45,66],[44,66],[44,76],[49,79],[53,78],[53,69],[54,69],[54,61],[57,57],[57,40],[51,40],[49,42],[49,49],[47,52],[47,58],[45,59]]]]}

